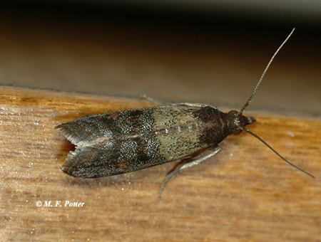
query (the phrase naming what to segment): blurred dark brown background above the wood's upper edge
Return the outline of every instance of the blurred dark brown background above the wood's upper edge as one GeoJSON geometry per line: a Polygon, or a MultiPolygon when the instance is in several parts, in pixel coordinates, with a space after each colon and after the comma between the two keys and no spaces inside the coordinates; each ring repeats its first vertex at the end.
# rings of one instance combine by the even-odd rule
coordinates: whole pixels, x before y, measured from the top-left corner
{"type": "Polygon", "coordinates": [[[320,1],[10,1],[0,84],[321,115],[320,1]]]}

